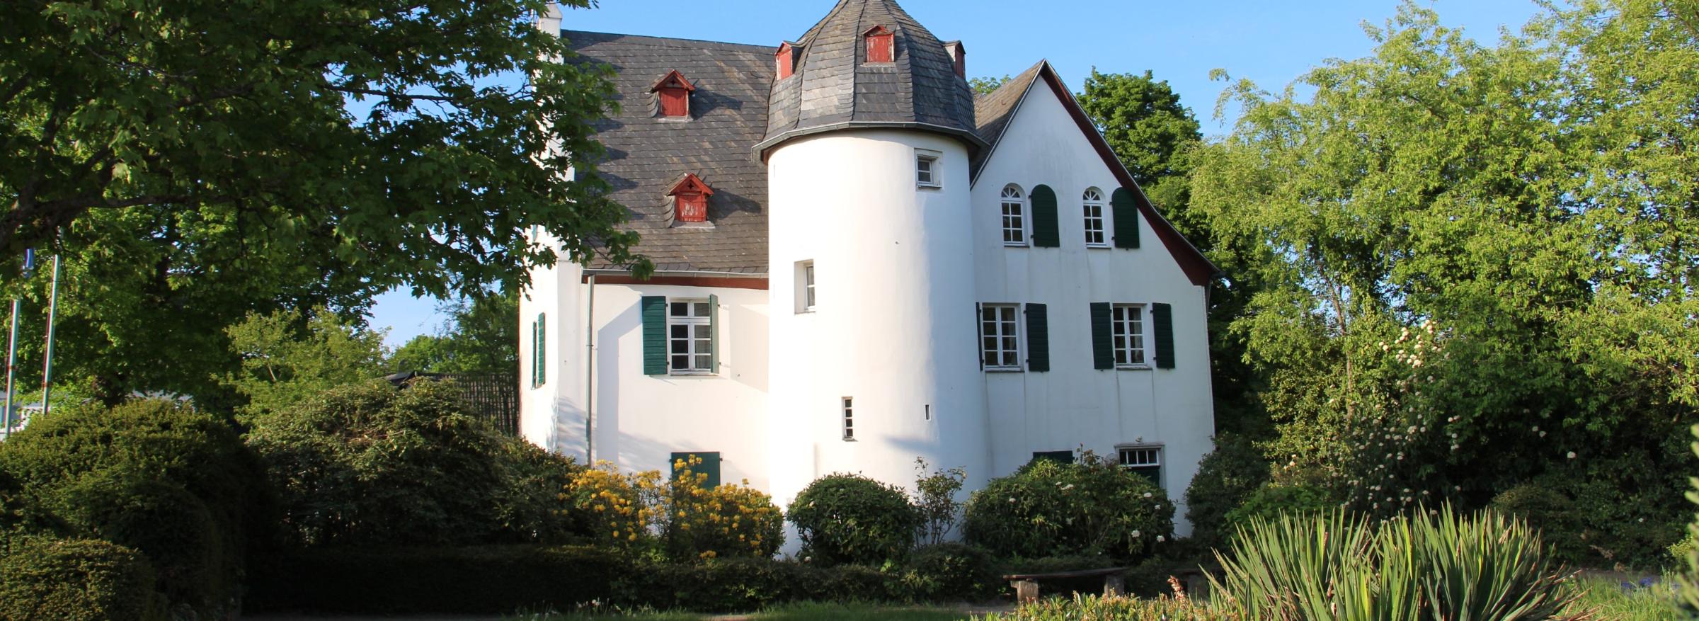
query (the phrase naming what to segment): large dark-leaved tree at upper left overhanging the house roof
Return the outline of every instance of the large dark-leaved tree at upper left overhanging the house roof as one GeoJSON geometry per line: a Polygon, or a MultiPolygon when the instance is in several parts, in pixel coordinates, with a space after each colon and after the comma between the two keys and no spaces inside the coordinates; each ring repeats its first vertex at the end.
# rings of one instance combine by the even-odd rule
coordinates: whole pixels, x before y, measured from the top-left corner
{"type": "MultiPolygon", "coordinates": [[[[250,311],[352,318],[394,286],[522,282],[556,250],[646,271],[595,170],[612,85],[562,61],[566,43],[533,27],[544,10],[0,5],[0,252],[65,257],[58,376],[107,400],[207,396],[236,367],[221,330],[250,311]]],[[[46,276],[0,272],[39,335],[46,276]]]]}

